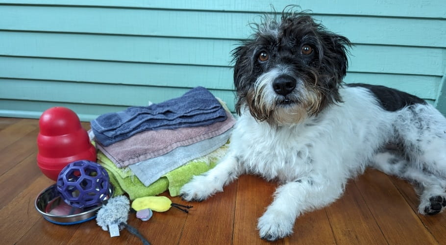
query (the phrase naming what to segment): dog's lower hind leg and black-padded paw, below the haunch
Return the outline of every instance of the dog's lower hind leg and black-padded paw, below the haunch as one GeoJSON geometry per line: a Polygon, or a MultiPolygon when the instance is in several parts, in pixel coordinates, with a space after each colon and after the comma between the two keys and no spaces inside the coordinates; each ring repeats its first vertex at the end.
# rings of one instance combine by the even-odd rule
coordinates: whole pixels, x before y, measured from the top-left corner
{"type": "Polygon", "coordinates": [[[434,215],[446,207],[446,179],[414,167],[406,159],[393,151],[379,152],[374,156],[374,168],[412,182],[420,196],[418,212],[434,215]]]}

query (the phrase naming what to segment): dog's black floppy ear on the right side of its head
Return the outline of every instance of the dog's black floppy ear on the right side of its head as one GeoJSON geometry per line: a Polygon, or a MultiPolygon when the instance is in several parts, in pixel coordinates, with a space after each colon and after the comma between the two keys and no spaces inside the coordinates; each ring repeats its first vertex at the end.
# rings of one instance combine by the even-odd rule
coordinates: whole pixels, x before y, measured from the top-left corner
{"type": "Polygon", "coordinates": [[[331,69],[330,74],[337,74],[339,82],[346,76],[348,68],[348,49],[351,47],[350,41],[345,36],[335,34],[323,29],[322,40],[324,42],[323,55],[321,55],[321,64],[329,64],[323,66],[331,69]]]}

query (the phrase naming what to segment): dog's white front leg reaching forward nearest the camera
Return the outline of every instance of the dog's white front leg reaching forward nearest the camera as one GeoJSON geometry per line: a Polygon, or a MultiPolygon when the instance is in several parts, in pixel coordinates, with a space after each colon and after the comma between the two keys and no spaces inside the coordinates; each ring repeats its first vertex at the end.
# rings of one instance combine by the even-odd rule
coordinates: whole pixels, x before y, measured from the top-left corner
{"type": "Polygon", "coordinates": [[[262,239],[274,241],[290,235],[300,214],[324,207],[343,193],[346,179],[338,183],[316,179],[302,178],[277,188],[273,203],[257,224],[262,239]]]}

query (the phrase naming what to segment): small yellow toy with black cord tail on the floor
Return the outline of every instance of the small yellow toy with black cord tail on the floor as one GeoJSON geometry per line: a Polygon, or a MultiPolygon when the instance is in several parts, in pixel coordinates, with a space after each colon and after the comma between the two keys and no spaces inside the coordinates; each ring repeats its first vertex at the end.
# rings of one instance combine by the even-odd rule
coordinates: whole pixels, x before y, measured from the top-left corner
{"type": "Polygon", "coordinates": [[[166,196],[145,196],[136,198],[132,202],[132,208],[135,211],[140,211],[149,208],[155,212],[166,212],[171,207],[177,208],[185,213],[189,213],[187,209],[193,208],[193,206],[186,206],[178,203],[172,203],[171,199],[169,199],[166,196]]]}

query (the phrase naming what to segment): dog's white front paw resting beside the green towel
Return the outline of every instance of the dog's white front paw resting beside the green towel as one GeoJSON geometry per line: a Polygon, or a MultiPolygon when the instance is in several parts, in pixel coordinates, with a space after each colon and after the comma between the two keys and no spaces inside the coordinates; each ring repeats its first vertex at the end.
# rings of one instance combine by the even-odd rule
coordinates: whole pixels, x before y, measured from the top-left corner
{"type": "Polygon", "coordinates": [[[216,192],[223,191],[216,181],[209,180],[206,175],[195,176],[180,190],[180,196],[186,201],[202,201],[216,192]]]}

